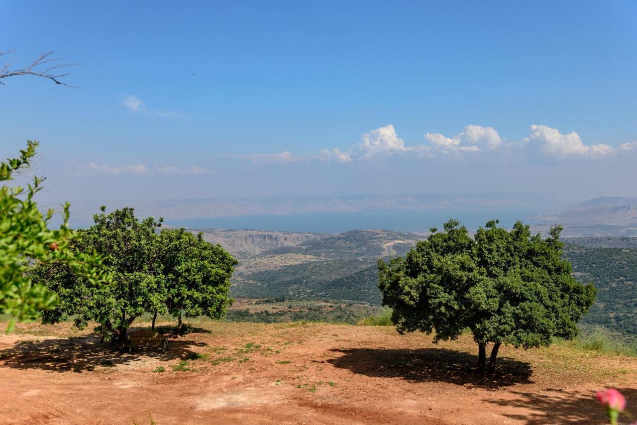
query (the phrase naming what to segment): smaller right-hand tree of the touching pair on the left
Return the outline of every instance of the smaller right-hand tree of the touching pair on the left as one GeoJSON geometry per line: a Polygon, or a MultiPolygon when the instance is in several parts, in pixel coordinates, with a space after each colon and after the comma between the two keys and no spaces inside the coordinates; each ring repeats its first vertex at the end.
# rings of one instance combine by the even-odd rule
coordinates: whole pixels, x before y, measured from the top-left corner
{"type": "Polygon", "coordinates": [[[164,229],[160,234],[161,262],[166,278],[166,308],[178,319],[206,315],[218,319],[232,302],[227,294],[238,264],[221,245],[194,236],[185,229],[164,229]]]}

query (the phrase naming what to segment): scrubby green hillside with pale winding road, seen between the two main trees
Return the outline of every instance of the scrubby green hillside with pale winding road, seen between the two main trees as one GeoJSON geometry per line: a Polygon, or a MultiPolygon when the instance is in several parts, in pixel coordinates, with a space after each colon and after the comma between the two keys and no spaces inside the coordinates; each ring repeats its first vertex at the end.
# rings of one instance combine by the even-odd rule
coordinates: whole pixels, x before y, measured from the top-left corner
{"type": "Polygon", "coordinates": [[[404,255],[422,238],[413,233],[354,230],[267,250],[241,259],[232,293],[248,298],[347,299],[380,305],[378,258],[404,255]]]}

